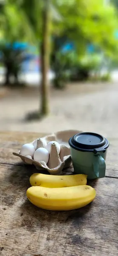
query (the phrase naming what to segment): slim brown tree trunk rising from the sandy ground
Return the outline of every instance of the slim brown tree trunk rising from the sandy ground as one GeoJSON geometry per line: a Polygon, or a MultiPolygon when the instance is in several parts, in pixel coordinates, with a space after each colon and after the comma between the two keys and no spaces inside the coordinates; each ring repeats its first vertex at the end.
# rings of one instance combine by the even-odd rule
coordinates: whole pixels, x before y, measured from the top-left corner
{"type": "Polygon", "coordinates": [[[44,0],[42,12],[42,47],[41,47],[41,66],[42,66],[42,83],[41,83],[41,115],[49,112],[49,41],[50,41],[50,0],[44,0]]]}

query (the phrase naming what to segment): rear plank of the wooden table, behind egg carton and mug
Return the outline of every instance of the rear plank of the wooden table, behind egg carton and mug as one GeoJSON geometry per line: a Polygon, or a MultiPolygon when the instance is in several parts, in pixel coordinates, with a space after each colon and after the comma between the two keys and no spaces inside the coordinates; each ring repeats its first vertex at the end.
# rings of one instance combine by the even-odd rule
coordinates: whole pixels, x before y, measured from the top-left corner
{"type": "MultiPolygon", "coordinates": [[[[35,140],[37,137],[43,137],[43,133],[27,132],[0,132],[0,163],[10,163],[20,166],[25,164],[19,157],[15,157],[12,152],[18,151],[20,147],[27,142],[35,140]]],[[[118,177],[118,139],[108,138],[110,146],[106,158],[106,176],[118,177]]]]}

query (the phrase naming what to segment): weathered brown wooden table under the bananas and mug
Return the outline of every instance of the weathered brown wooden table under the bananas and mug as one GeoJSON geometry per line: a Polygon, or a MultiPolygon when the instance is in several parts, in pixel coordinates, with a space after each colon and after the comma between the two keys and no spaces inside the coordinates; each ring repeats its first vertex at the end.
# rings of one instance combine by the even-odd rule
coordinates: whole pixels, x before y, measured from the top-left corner
{"type": "Polygon", "coordinates": [[[0,255],[117,256],[118,140],[109,139],[106,177],[93,181],[97,195],[86,207],[67,212],[39,209],[26,198],[35,167],[13,151],[44,134],[0,133],[0,255]]]}

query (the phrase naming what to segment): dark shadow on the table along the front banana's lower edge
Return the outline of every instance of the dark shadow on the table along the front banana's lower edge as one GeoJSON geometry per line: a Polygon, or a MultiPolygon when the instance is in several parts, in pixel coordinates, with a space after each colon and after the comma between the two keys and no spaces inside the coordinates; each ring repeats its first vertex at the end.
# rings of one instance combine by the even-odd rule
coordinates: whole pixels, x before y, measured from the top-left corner
{"type": "MultiPolygon", "coordinates": [[[[49,211],[45,209],[40,209],[33,205],[31,202],[29,202],[28,199],[20,206],[21,212],[23,212],[23,215],[26,215],[27,220],[27,228],[29,229],[29,222],[33,223],[31,220],[37,219],[40,223],[43,223],[43,221],[48,222],[59,222],[59,223],[65,223],[68,221],[82,221],[86,220],[88,218],[88,214],[92,214],[92,205],[93,203],[88,204],[85,207],[82,207],[80,209],[75,209],[71,211],[49,211]]],[[[31,228],[31,225],[30,225],[31,228]]]]}

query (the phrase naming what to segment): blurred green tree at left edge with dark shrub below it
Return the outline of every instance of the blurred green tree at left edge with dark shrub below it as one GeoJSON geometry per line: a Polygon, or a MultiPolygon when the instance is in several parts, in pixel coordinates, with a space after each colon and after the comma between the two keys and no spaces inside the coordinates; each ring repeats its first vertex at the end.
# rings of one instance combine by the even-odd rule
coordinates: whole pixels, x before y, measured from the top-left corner
{"type": "Polygon", "coordinates": [[[0,61],[6,69],[6,85],[10,84],[11,75],[14,76],[16,84],[19,82],[18,74],[23,61],[23,50],[14,50],[14,42],[27,40],[34,42],[34,38],[35,33],[23,10],[19,11],[13,1],[2,1],[0,4],[0,61]]]}

